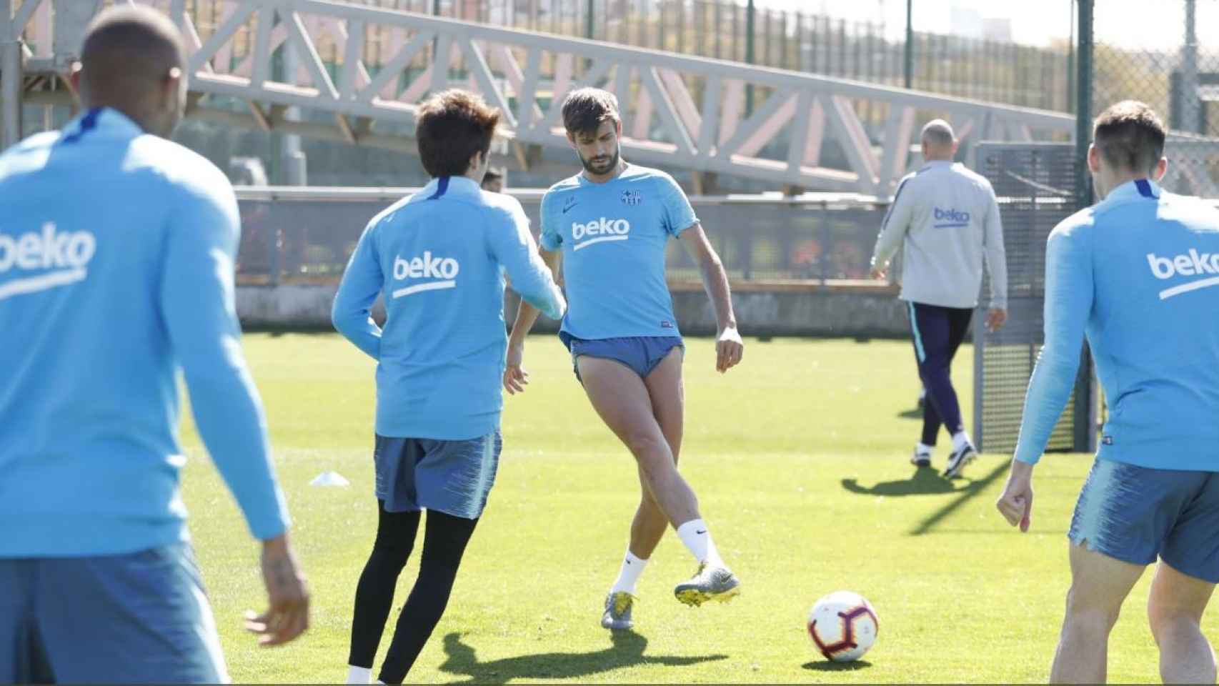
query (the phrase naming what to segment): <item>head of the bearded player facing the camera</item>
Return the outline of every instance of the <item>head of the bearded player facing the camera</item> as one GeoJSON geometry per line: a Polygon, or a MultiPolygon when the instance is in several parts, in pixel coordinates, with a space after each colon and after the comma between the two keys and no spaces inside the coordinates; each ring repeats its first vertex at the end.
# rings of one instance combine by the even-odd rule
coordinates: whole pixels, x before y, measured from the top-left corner
{"type": "Polygon", "coordinates": [[[618,99],[600,88],[573,90],[563,100],[563,128],[580,164],[592,177],[618,171],[622,160],[622,117],[618,99]]]}

